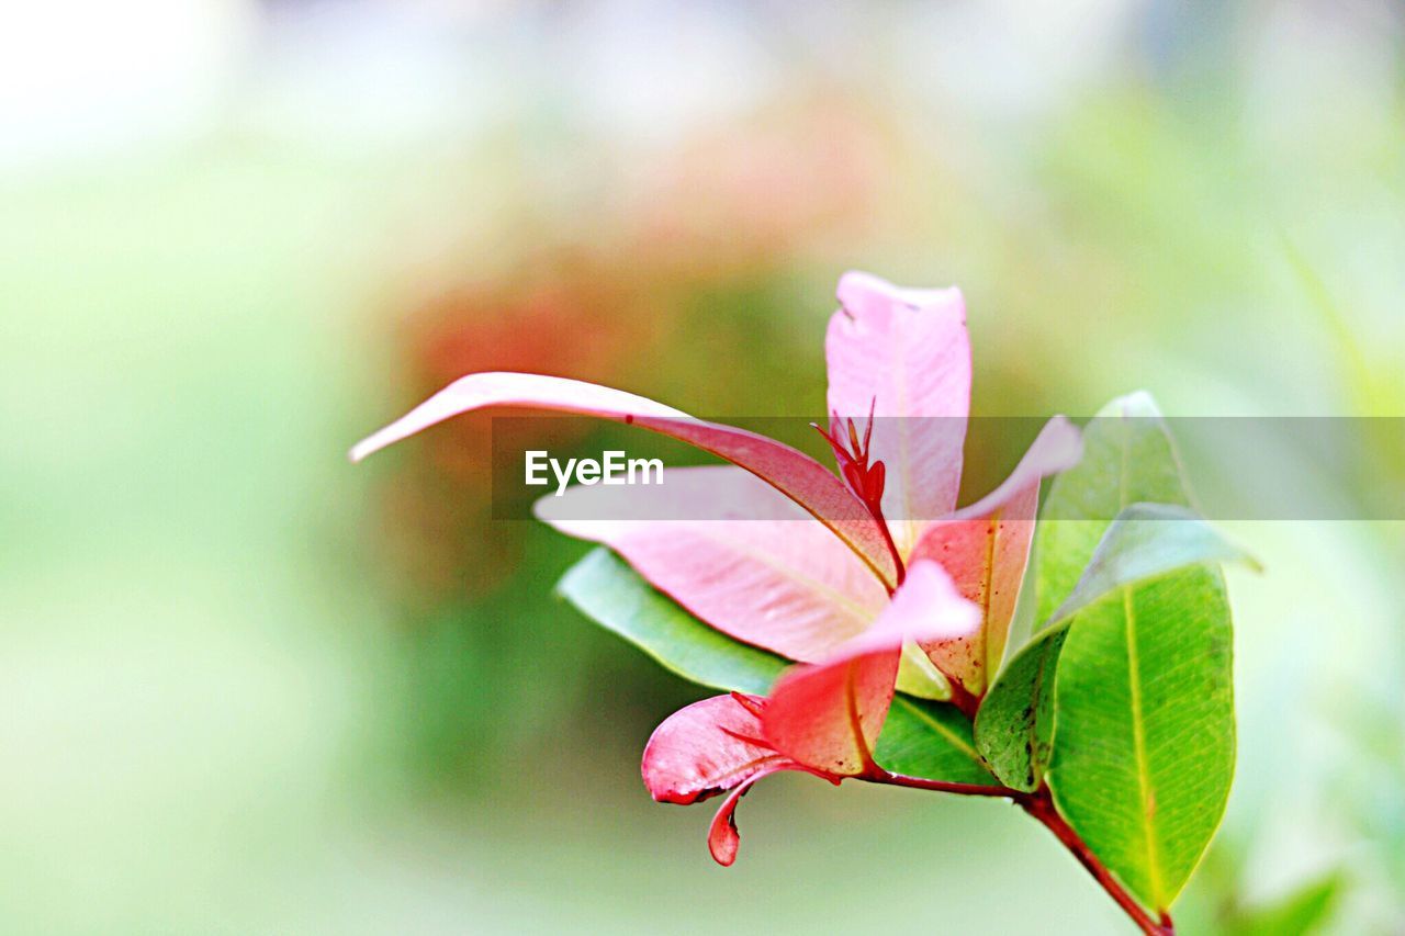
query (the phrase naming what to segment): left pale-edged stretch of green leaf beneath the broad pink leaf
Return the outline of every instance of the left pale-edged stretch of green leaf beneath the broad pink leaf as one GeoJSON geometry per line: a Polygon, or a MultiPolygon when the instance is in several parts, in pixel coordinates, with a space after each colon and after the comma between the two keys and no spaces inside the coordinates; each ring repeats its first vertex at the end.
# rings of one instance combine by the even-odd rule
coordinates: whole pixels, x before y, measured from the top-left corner
{"type": "Polygon", "coordinates": [[[556,590],[582,614],[665,669],[702,686],[766,694],[791,665],[783,656],[712,630],[604,547],[573,565],[556,590]]]}

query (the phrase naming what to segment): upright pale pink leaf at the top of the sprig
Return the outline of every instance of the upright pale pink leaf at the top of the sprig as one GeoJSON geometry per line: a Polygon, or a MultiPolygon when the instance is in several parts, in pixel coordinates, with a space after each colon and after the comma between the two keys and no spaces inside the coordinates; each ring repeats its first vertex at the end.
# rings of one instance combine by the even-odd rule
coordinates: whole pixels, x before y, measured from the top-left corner
{"type": "Polygon", "coordinates": [[[871,461],[887,479],[884,516],[906,552],[961,488],[971,408],[965,302],[951,290],[903,290],[867,273],[839,281],[829,320],[829,409],[861,422],[873,409],[871,461]]]}

